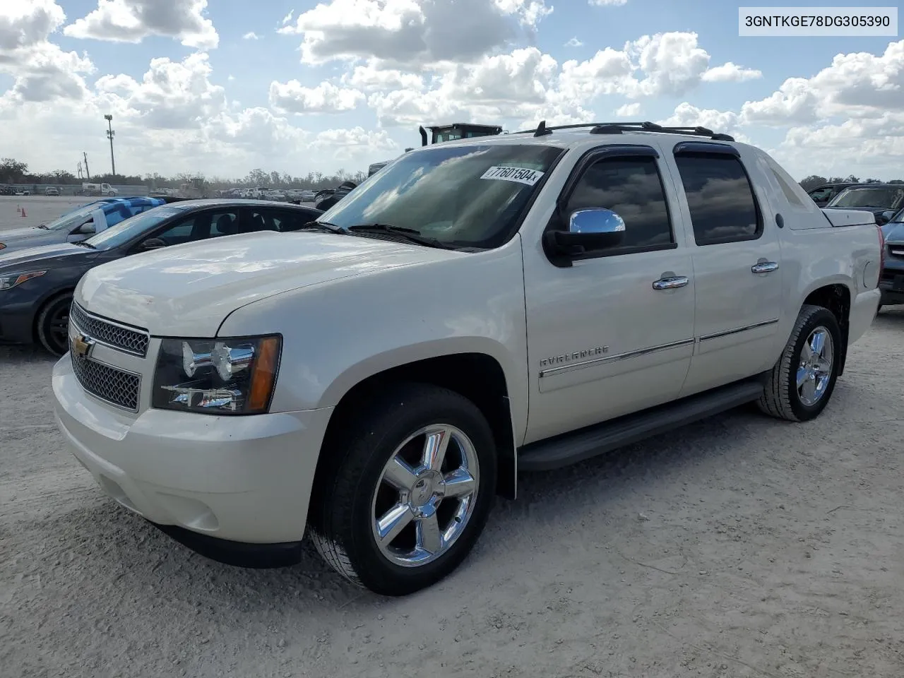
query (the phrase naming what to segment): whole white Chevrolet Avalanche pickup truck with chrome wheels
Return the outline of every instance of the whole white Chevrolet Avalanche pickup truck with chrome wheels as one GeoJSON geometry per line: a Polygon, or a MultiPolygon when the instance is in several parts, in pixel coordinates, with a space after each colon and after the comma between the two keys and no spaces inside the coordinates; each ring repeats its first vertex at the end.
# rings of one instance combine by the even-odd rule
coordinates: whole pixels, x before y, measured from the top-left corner
{"type": "Polygon", "coordinates": [[[320,221],[138,254],[74,293],[57,421],[120,504],[212,558],[308,528],[387,595],[454,570],[516,474],[746,402],[816,417],[879,304],[870,212],[644,125],[427,146],[320,221]]]}

